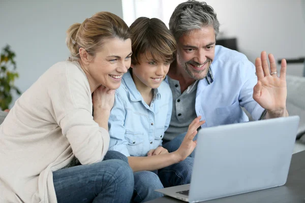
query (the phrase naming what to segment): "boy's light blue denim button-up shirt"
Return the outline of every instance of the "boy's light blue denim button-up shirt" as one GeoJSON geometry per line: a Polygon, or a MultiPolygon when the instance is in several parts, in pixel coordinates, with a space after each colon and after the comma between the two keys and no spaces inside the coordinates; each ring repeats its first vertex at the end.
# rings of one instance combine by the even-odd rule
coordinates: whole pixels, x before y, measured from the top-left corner
{"type": "Polygon", "coordinates": [[[115,91],[108,121],[109,150],[126,156],[146,156],[149,150],[162,145],[171,113],[172,93],[165,81],[154,89],[153,101],[148,106],[128,71],[115,91]]]}

